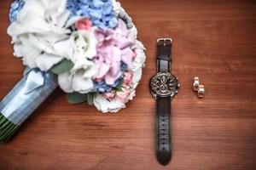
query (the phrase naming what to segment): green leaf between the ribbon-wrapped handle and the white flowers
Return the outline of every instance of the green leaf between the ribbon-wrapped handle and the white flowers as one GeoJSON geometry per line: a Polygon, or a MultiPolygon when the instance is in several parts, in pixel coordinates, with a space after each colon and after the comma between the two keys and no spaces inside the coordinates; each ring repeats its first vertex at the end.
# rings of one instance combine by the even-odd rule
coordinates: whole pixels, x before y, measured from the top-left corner
{"type": "Polygon", "coordinates": [[[60,63],[54,65],[50,71],[54,74],[62,74],[64,72],[70,71],[73,68],[73,62],[67,59],[62,59],[60,63]]]}

